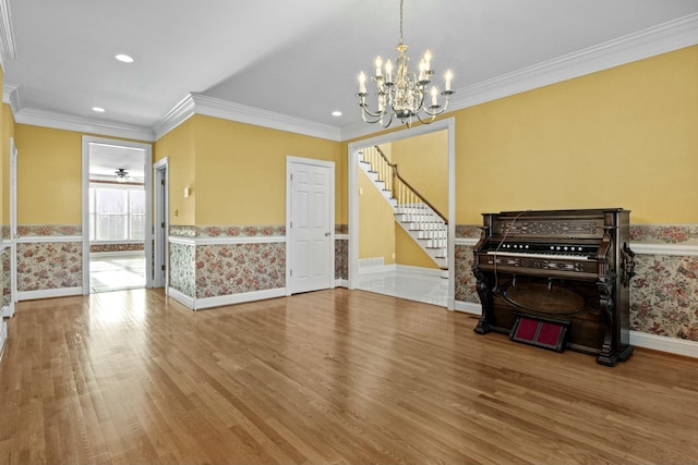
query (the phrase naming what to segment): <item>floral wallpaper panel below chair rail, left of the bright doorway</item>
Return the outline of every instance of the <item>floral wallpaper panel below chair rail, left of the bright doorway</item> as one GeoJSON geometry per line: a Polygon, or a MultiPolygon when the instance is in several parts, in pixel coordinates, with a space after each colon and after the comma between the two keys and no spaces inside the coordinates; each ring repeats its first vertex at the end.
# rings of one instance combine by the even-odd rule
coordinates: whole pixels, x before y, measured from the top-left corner
{"type": "Polygon", "coordinates": [[[82,285],[82,242],[17,244],[19,292],[82,285]]]}

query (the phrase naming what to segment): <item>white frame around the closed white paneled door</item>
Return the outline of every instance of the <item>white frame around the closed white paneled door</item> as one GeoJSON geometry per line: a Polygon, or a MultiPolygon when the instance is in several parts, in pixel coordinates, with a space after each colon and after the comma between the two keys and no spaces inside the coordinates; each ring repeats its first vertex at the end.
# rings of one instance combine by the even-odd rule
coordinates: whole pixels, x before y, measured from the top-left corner
{"type": "Polygon", "coordinates": [[[293,229],[291,228],[291,206],[293,201],[291,186],[291,168],[296,164],[304,164],[329,169],[329,260],[327,260],[328,283],[326,289],[335,287],[335,163],[333,161],[315,160],[312,158],[301,158],[288,155],[286,157],[286,295],[292,294],[290,271],[297,264],[293,254],[293,229]]]}

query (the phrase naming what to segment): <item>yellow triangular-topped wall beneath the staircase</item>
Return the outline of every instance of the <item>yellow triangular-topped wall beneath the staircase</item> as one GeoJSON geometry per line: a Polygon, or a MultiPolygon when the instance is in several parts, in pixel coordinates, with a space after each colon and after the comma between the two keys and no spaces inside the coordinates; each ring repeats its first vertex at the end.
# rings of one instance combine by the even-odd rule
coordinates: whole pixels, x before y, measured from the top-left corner
{"type": "Polygon", "coordinates": [[[383,257],[395,264],[395,215],[373,182],[359,170],[359,258],[383,257]]]}

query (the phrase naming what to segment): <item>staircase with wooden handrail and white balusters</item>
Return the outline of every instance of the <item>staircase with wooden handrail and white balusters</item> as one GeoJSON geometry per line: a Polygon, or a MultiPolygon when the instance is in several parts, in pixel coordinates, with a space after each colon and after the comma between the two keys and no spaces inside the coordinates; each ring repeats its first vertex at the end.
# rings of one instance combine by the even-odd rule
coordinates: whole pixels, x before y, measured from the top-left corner
{"type": "MultiPolygon", "coordinates": [[[[390,163],[380,147],[360,151],[359,166],[395,211],[395,221],[443,271],[448,269],[448,221],[390,163]]],[[[446,273],[442,273],[446,277],[446,273]]]]}

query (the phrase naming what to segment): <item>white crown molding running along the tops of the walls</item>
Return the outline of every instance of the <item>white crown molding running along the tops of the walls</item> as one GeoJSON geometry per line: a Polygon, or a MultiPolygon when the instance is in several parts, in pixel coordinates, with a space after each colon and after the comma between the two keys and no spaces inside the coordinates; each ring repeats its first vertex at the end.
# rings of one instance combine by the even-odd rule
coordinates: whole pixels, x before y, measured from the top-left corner
{"type": "MultiPolygon", "coordinates": [[[[8,0],[0,0],[0,41],[5,39],[3,34],[8,34],[8,28],[11,36],[8,0]],[[2,30],[3,27],[5,28],[4,33],[2,30]]],[[[465,88],[459,88],[450,99],[449,111],[444,113],[444,115],[447,117],[454,111],[464,108],[678,50],[684,47],[690,47],[696,44],[698,44],[698,13],[517,70],[465,88]]],[[[5,45],[4,42],[0,45],[2,46],[2,48],[0,48],[0,54],[4,54],[5,45]]],[[[9,49],[8,53],[14,53],[13,46],[9,49]]],[[[193,114],[205,114],[224,120],[337,142],[365,137],[384,131],[382,126],[376,127],[375,125],[365,123],[357,123],[339,129],[328,124],[321,124],[195,93],[185,96],[153,127],[129,126],[69,114],[29,108],[24,109],[22,108],[20,90],[20,86],[13,86],[11,84],[3,85],[3,102],[11,105],[17,123],[134,138],[144,142],[157,140],[193,114]]]]}

